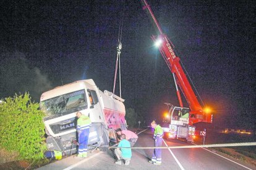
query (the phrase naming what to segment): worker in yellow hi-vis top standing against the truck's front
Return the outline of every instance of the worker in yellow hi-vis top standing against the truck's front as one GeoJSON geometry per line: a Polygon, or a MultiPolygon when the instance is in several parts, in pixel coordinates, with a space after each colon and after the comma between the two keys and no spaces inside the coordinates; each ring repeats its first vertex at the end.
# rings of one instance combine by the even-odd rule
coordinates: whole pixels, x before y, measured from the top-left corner
{"type": "Polygon", "coordinates": [[[77,157],[87,157],[87,144],[88,136],[90,133],[90,126],[92,122],[88,116],[82,115],[80,111],[77,111],[77,132],[79,137],[79,154],[77,157]]]}

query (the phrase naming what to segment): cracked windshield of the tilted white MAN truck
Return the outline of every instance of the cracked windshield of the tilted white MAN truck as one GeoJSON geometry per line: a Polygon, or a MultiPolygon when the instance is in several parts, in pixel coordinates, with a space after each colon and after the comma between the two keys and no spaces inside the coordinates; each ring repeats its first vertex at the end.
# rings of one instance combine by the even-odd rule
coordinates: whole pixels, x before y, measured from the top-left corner
{"type": "Polygon", "coordinates": [[[85,91],[75,91],[42,101],[40,109],[50,117],[58,117],[87,108],[85,91]]]}

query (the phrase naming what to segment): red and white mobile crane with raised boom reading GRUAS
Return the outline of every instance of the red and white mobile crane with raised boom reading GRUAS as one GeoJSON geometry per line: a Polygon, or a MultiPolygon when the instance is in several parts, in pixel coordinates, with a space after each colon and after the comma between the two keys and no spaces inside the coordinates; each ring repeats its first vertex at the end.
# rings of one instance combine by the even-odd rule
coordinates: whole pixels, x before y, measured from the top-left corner
{"type": "Polygon", "coordinates": [[[169,40],[168,36],[163,33],[147,1],[141,0],[141,2],[143,10],[146,10],[153,24],[155,23],[154,26],[158,36],[152,35],[151,39],[158,44],[158,49],[173,74],[177,99],[179,100],[179,107],[167,103],[170,106],[168,113],[170,121],[169,127],[163,128],[164,137],[173,139],[183,138],[187,142],[192,142],[195,134],[195,126],[193,125],[199,122],[212,123],[213,115],[209,113],[209,108],[203,108],[198,102],[189,80],[179,63],[180,59],[176,51],[174,51],[173,43],[169,40]],[[182,94],[184,94],[189,108],[183,107],[179,89],[181,89],[182,94]]]}

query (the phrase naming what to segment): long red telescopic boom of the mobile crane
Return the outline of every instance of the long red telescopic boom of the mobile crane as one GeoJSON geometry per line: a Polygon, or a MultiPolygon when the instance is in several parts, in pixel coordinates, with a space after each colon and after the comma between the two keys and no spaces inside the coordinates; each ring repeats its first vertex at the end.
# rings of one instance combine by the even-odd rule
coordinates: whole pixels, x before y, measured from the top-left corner
{"type": "Polygon", "coordinates": [[[157,22],[155,15],[153,14],[147,1],[141,0],[141,2],[143,5],[143,10],[146,10],[147,14],[151,18],[151,21],[153,22],[153,25],[155,26],[155,30],[158,32],[157,37],[152,36],[151,38],[153,39],[153,41],[161,43],[159,46],[159,50],[162,57],[166,61],[169,69],[171,70],[171,73],[173,73],[174,75],[175,83],[177,83],[176,90],[179,104],[181,107],[183,107],[179,89],[181,89],[182,93],[186,97],[187,103],[189,103],[189,124],[192,125],[198,122],[211,123],[212,115],[207,116],[207,113],[203,110],[202,106],[198,102],[197,97],[192,87],[190,86],[189,80],[187,79],[187,76],[185,75],[181,64],[179,63],[180,59],[174,51],[173,43],[169,40],[168,36],[166,36],[166,34],[164,34],[161,30],[161,27],[157,22]],[[177,85],[179,89],[177,88],[177,85]]]}

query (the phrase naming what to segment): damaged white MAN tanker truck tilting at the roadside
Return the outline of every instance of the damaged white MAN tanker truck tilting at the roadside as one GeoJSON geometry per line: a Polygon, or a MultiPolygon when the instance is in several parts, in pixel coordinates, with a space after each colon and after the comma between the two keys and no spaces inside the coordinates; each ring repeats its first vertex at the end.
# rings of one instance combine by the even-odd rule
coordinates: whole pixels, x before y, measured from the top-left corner
{"type": "Polygon", "coordinates": [[[63,155],[77,152],[77,111],[90,117],[92,126],[88,149],[106,151],[109,134],[117,128],[126,129],[124,99],[109,91],[100,91],[93,79],[83,79],[43,92],[40,110],[46,116],[46,144],[49,151],[63,155]]]}

